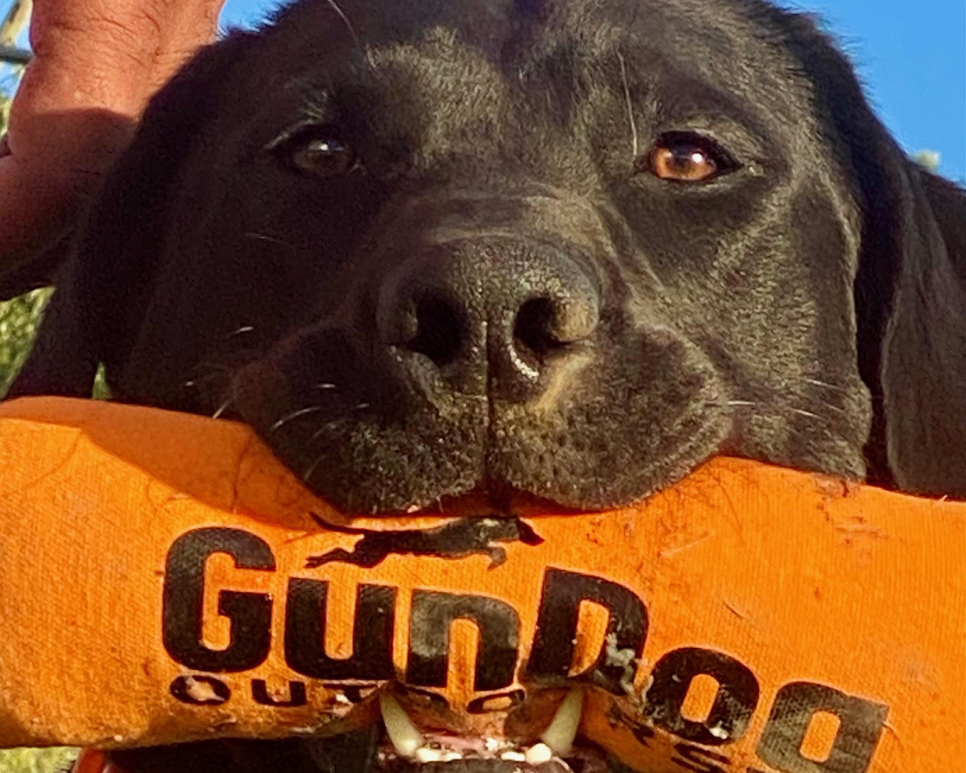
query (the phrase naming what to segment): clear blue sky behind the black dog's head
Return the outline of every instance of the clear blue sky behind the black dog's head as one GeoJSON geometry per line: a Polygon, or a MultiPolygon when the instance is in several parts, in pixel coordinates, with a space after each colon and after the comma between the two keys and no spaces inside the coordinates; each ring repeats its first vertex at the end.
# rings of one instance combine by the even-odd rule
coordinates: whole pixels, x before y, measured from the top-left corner
{"type": "MultiPolygon", "coordinates": [[[[939,171],[966,181],[963,0],[786,3],[827,20],[857,64],[879,114],[906,150],[938,151],[939,171]]],[[[277,5],[272,0],[227,0],[222,20],[251,23],[277,5]]]]}

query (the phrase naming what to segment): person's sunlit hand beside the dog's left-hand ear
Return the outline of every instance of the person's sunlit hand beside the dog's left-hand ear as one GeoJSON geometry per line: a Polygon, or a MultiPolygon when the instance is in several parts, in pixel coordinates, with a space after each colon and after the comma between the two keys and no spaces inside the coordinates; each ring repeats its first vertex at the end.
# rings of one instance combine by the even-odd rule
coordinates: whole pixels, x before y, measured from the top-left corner
{"type": "MultiPolygon", "coordinates": [[[[50,253],[224,0],[35,0],[0,152],[0,273],[50,253]]],[[[0,282],[0,285],[5,284],[0,282]]]]}

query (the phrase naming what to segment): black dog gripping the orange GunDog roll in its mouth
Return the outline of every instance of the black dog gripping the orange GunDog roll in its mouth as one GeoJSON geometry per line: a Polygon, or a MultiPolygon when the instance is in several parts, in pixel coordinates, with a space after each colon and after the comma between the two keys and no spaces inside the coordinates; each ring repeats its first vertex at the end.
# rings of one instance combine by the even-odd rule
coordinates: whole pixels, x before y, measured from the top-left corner
{"type": "Polygon", "coordinates": [[[966,197],[760,0],[304,0],[153,101],[13,393],[98,363],[354,512],[966,497],[966,197]]]}

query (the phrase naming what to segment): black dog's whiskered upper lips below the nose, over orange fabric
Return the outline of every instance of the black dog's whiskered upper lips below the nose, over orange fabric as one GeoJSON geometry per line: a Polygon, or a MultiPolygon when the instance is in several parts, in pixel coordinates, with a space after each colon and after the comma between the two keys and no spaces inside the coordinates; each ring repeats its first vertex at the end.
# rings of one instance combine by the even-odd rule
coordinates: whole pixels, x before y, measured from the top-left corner
{"type": "Polygon", "coordinates": [[[308,488],[349,514],[439,511],[468,496],[491,512],[520,498],[623,506],[694,470],[731,429],[715,369],[669,335],[641,337],[633,357],[616,351],[531,402],[360,377],[346,348],[318,348],[243,369],[235,405],[308,488]],[[320,362],[343,367],[320,374],[320,362]]]}

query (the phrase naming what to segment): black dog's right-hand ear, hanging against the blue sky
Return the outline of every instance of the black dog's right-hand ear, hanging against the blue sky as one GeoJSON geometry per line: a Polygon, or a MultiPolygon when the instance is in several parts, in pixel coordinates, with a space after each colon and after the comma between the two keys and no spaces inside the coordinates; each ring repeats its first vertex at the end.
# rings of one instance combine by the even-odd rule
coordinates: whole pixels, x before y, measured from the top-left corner
{"type": "Polygon", "coordinates": [[[966,498],[966,194],[905,156],[811,17],[759,5],[811,81],[861,209],[855,306],[873,408],[868,480],[966,498]]]}

